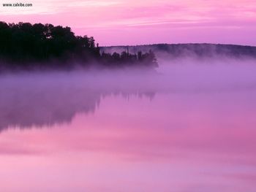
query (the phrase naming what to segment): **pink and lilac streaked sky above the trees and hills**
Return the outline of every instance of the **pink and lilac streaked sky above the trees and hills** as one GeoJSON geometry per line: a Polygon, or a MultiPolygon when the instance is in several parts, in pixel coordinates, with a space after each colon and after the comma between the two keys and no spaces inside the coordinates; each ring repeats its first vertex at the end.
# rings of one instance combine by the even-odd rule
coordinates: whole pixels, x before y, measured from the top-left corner
{"type": "Polygon", "coordinates": [[[0,20],[70,26],[75,34],[93,36],[99,45],[184,42],[256,45],[255,0],[30,0],[23,3],[32,3],[33,7],[1,5],[0,20]]]}

